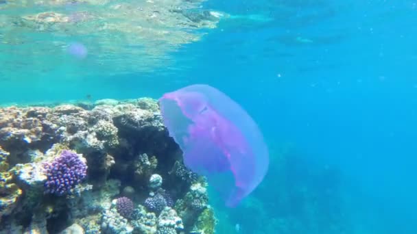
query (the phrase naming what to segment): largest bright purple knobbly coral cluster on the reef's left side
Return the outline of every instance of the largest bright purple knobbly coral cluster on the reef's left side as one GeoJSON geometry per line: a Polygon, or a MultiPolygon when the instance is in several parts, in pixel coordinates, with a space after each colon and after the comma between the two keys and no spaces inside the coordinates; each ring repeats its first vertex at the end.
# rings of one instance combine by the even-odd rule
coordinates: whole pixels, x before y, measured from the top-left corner
{"type": "Polygon", "coordinates": [[[61,196],[70,194],[86,177],[87,166],[76,153],[64,150],[51,163],[45,164],[45,170],[45,193],[61,196]]]}

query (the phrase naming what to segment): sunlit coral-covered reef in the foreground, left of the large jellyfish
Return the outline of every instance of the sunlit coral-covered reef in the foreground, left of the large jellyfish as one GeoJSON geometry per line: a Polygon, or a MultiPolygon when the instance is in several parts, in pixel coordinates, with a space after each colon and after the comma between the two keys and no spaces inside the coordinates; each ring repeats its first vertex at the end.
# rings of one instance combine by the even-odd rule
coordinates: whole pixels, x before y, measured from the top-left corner
{"type": "Polygon", "coordinates": [[[0,108],[0,233],[214,233],[154,99],[0,108]]]}

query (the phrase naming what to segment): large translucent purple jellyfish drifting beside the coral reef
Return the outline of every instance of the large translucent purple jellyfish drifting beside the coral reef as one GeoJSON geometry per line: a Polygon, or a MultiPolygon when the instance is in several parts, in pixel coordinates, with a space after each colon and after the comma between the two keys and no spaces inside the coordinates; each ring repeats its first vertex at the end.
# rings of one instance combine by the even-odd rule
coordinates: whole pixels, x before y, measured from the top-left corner
{"type": "Polygon", "coordinates": [[[184,164],[234,207],[265,177],[267,146],[257,124],[226,94],[193,85],[163,95],[160,110],[184,164]]]}

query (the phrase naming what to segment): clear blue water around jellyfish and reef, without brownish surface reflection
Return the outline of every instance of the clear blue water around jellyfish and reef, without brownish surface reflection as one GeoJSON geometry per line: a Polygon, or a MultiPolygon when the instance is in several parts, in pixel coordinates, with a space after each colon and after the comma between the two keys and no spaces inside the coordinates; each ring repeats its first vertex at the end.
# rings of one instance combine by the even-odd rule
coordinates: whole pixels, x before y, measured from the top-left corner
{"type": "MultiPolygon", "coordinates": [[[[196,42],[144,55],[143,66],[156,63],[150,70],[106,75],[94,56],[46,57],[49,71],[2,68],[0,101],[158,98],[207,83],[252,115],[272,158],[239,207],[213,195],[218,233],[237,224],[239,233],[417,233],[417,2],[208,0],[202,8],[231,17],[195,31],[206,33],[196,42]]],[[[3,62],[25,62],[0,49],[3,62]]]]}

